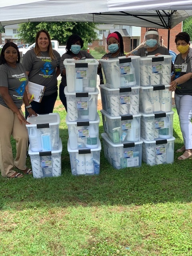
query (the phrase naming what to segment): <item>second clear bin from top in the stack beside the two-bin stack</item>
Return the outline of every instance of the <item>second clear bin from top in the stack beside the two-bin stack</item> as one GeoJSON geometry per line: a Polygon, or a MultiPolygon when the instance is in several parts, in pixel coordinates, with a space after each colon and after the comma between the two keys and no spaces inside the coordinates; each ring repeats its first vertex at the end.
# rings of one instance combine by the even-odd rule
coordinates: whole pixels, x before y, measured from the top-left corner
{"type": "Polygon", "coordinates": [[[96,121],[97,102],[99,90],[96,92],[67,92],[64,88],[67,99],[68,120],[73,121],[96,121]]]}

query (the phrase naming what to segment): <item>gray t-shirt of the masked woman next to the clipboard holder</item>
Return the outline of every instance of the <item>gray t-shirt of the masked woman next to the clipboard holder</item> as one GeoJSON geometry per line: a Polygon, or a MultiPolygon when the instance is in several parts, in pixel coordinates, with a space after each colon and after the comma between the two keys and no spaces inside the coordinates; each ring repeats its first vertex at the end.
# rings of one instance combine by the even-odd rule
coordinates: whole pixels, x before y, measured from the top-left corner
{"type": "MultiPolygon", "coordinates": [[[[66,81],[66,75],[63,75],[62,74],[62,71],[64,70],[65,66],[63,64],[64,60],[65,59],[72,59],[74,58],[75,55],[73,54],[68,54],[68,53],[64,53],[61,57],[61,60],[60,60],[60,72],[61,72],[61,84],[65,87],[67,85],[67,81],[66,81]]],[[[81,50],[78,55],[80,59],[94,59],[94,57],[88,53],[87,51],[85,50],[81,50]]]]}

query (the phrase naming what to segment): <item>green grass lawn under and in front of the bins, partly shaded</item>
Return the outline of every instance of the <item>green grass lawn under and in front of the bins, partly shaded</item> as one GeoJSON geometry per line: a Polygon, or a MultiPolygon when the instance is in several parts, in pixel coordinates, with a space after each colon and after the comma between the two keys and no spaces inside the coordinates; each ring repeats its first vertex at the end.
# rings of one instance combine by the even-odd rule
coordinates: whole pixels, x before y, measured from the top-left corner
{"type": "MultiPolygon", "coordinates": [[[[54,112],[61,118],[62,176],[0,177],[0,255],[191,256],[192,160],[176,153],[173,164],[115,170],[101,150],[100,175],[72,176],[66,112],[54,112]]],[[[176,113],[174,137],[180,148],[176,113]]]]}

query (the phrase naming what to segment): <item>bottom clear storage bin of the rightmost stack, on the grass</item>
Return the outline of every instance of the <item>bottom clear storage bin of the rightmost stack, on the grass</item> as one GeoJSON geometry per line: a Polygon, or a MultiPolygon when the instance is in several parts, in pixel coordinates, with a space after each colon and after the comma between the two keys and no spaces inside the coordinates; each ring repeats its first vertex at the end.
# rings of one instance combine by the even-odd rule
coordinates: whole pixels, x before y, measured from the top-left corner
{"type": "Polygon", "coordinates": [[[141,138],[142,160],[153,166],[158,164],[172,164],[174,161],[174,140],[169,138],[165,140],[147,141],[141,138]]]}

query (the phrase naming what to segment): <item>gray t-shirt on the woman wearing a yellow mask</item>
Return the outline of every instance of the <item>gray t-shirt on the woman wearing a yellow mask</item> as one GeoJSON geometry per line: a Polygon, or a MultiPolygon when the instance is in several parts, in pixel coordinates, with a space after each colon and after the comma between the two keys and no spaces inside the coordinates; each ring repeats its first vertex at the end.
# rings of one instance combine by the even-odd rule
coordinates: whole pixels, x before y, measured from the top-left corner
{"type": "MultiPolygon", "coordinates": [[[[181,54],[178,54],[176,56],[176,59],[174,61],[174,66],[173,66],[175,79],[186,74],[185,72],[181,72],[182,64],[184,64],[185,62],[187,64],[186,73],[192,72],[192,49],[191,48],[189,50],[188,55],[186,56],[186,60],[182,58],[181,54]]],[[[192,95],[192,79],[189,79],[183,84],[178,84],[176,87],[175,93],[179,95],[192,95]]]]}

